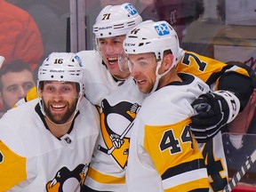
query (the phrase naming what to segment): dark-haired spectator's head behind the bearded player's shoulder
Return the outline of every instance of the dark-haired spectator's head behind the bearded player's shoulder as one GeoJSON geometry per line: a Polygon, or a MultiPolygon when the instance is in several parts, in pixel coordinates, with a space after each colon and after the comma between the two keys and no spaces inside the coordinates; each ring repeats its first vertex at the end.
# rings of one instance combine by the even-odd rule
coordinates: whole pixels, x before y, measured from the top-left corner
{"type": "Polygon", "coordinates": [[[36,86],[35,79],[28,63],[22,60],[7,62],[0,69],[1,114],[12,108],[18,100],[24,98],[34,86],[36,86]]]}

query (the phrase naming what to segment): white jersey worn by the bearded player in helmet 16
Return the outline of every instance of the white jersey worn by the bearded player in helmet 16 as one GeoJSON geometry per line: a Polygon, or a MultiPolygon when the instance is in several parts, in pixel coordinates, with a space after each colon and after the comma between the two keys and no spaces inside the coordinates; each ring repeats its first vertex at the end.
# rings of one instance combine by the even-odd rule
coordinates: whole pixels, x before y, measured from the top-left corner
{"type": "Polygon", "coordinates": [[[49,131],[38,100],[9,110],[0,120],[0,191],[80,191],[99,131],[99,113],[85,98],[60,139],[49,131]]]}

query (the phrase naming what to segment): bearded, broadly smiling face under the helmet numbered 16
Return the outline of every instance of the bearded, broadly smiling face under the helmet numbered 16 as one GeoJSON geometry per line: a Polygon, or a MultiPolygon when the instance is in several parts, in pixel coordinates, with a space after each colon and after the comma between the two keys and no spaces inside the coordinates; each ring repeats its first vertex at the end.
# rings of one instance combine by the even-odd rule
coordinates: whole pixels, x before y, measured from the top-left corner
{"type": "Polygon", "coordinates": [[[78,101],[76,85],[71,82],[44,82],[39,96],[43,101],[45,116],[54,124],[65,124],[73,118],[78,101]]]}

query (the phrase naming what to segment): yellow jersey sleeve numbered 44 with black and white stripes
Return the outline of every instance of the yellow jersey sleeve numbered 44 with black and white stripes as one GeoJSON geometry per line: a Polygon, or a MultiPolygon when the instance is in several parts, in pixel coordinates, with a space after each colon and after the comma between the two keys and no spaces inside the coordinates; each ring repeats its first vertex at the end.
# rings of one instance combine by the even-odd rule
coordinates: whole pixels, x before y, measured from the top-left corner
{"type": "Polygon", "coordinates": [[[203,156],[189,123],[186,119],[177,124],[145,125],[144,148],[161,175],[164,191],[208,188],[203,156]]]}

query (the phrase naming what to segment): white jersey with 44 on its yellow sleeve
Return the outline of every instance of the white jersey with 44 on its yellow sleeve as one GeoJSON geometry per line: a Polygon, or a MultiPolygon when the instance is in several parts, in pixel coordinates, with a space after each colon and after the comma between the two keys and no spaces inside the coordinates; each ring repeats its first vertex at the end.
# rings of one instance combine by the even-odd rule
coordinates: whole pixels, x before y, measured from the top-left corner
{"type": "Polygon", "coordinates": [[[180,74],[150,94],[132,127],[126,185],[130,192],[192,191],[209,188],[204,158],[191,137],[191,103],[209,87],[180,74]]]}

